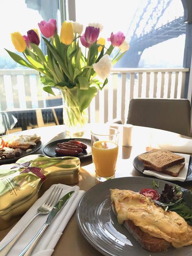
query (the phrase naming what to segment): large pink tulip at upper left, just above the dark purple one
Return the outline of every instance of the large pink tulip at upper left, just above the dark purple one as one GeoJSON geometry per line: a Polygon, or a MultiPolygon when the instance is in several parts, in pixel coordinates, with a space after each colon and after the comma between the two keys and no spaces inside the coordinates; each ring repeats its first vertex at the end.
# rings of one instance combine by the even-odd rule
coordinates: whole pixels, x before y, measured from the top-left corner
{"type": "Polygon", "coordinates": [[[55,29],[57,29],[57,21],[54,19],[49,19],[49,21],[42,20],[40,23],[38,23],[38,26],[41,33],[45,37],[50,38],[55,34],[55,29]]]}

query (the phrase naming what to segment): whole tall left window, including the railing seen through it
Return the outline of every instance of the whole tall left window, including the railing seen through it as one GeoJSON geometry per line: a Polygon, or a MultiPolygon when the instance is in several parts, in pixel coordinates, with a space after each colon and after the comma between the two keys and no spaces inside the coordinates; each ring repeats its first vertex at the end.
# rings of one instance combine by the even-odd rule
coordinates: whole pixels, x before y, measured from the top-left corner
{"type": "MultiPolygon", "coordinates": [[[[62,109],[51,108],[62,105],[59,90],[56,90],[56,97],[44,92],[38,72],[19,65],[4,50],[6,48],[24,58],[22,53],[14,49],[11,32],[20,31],[21,35],[27,35],[28,30],[38,28],[37,23],[41,20],[56,19],[60,30],[59,0],[7,0],[2,1],[0,6],[3,35],[0,42],[0,134],[6,130],[15,132],[35,128],[38,120],[43,121],[41,123],[44,125],[55,124],[54,116],[57,116],[57,123],[62,124],[62,109]],[[46,107],[50,108],[42,109],[41,112],[36,110],[46,107]],[[40,113],[38,118],[37,112],[40,113]]],[[[46,53],[43,40],[40,41],[40,48],[46,53]]]]}

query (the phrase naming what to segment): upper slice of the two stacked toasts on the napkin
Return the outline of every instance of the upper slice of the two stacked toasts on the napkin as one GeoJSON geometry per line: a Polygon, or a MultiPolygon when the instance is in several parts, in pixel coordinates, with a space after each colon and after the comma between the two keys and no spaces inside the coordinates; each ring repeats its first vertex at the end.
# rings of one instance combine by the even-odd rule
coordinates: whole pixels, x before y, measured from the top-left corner
{"type": "Polygon", "coordinates": [[[167,167],[185,162],[185,158],[167,150],[155,150],[138,156],[144,164],[150,165],[156,171],[162,172],[167,167]]]}

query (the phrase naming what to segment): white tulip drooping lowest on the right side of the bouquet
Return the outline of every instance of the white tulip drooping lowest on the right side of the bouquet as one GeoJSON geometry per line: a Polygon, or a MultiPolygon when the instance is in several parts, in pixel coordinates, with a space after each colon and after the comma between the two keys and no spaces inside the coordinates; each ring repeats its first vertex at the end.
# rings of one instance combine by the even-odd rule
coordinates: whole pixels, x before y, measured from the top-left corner
{"type": "Polygon", "coordinates": [[[97,63],[93,64],[94,71],[103,80],[110,75],[111,68],[112,64],[108,54],[105,54],[97,63]]]}

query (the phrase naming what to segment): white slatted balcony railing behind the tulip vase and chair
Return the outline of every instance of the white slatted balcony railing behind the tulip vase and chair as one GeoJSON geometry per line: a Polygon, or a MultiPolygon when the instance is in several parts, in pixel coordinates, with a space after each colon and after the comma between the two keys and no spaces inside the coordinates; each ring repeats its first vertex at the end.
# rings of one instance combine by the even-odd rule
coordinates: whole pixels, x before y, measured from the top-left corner
{"type": "MultiPolygon", "coordinates": [[[[132,98],[184,98],[185,74],[189,68],[114,68],[108,84],[89,107],[89,122],[114,118],[126,122],[132,98]]],[[[42,90],[35,70],[0,70],[0,107],[44,108],[46,100],[61,99],[42,90]]]]}

